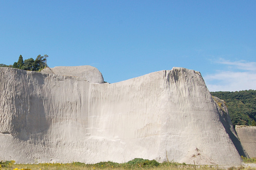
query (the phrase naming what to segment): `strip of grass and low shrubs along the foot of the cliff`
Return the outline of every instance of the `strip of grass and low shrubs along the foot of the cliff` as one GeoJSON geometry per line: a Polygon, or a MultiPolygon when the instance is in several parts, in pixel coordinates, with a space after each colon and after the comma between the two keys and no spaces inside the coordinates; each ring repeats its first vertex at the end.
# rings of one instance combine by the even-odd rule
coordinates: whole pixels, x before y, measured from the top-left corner
{"type": "MultiPolygon", "coordinates": [[[[255,158],[242,157],[245,163],[256,163],[255,158]],[[254,162],[255,161],[255,162],[254,162]]],[[[39,164],[15,164],[15,161],[0,161],[0,170],[127,170],[127,169],[148,169],[148,170],[216,170],[222,169],[219,166],[198,166],[187,165],[185,163],[179,164],[176,162],[163,162],[159,163],[155,160],[144,160],[141,158],[135,158],[124,164],[118,164],[115,162],[100,162],[97,164],[84,164],[81,162],[72,163],[39,163],[39,164]]],[[[229,167],[228,170],[256,170],[251,167],[229,167]]]]}

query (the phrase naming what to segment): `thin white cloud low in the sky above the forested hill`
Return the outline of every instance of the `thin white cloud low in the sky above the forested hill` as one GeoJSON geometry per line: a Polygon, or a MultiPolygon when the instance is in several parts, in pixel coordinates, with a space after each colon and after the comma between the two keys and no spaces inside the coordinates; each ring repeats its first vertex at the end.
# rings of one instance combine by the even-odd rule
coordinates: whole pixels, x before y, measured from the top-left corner
{"type": "Polygon", "coordinates": [[[256,62],[220,59],[218,63],[226,65],[225,68],[232,71],[216,71],[216,73],[204,76],[209,91],[256,89],[256,62]]]}

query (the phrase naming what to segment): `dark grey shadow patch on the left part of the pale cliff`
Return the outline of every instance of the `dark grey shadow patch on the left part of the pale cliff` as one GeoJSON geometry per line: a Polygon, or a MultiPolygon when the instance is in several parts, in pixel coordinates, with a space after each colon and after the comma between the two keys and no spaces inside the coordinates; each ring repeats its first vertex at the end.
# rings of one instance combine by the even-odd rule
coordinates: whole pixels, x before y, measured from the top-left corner
{"type": "Polygon", "coordinates": [[[12,117],[14,137],[20,140],[40,140],[49,125],[44,107],[44,76],[32,72],[20,80],[20,89],[14,95],[15,113],[12,117]],[[32,83],[27,83],[32,81],[32,83]]]}

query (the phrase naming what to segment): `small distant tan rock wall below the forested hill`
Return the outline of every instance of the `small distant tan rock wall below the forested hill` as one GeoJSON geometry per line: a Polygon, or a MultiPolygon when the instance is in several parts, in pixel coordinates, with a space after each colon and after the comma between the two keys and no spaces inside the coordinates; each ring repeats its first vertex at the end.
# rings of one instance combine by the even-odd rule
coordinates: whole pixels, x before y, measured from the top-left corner
{"type": "Polygon", "coordinates": [[[256,157],[256,127],[236,125],[236,132],[250,158],[256,157]]]}

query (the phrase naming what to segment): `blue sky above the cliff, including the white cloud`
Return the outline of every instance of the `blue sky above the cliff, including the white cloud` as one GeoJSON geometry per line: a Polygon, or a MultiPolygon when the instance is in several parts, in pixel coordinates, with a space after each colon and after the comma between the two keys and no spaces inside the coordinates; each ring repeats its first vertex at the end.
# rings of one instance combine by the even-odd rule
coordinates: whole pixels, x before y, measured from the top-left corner
{"type": "Polygon", "coordinates": [[[185,67],[210,91],[256,90],[256,1],[0,0],[0,63],[39,54],[109,83],[185,67]]]}

